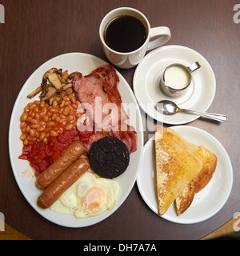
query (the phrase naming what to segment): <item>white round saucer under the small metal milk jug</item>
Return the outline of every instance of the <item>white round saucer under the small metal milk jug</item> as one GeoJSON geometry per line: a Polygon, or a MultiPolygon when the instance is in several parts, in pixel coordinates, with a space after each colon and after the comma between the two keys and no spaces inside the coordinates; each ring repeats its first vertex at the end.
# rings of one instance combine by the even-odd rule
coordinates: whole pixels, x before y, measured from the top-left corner
{"type": "Polygon", "coordinates": [[[138,104],[146,114],[158,122],[180,125],[192,122],[199,117],[184,113],[163,115],[156,109],[156,103],[162,99],[169,99],[180,108],[205,112],[214,100],[216,79],[210,63],[197,51],[186,46],[162,46],[146,54],[138,64],[134,73],[133,86],[138,104]],[[159,86],[166,66],[172,63],[190,66],[194,62],[198,62],[201,67],[192,74],[193,79],[186,94],[178,98],[166,96],[159,86]]]}

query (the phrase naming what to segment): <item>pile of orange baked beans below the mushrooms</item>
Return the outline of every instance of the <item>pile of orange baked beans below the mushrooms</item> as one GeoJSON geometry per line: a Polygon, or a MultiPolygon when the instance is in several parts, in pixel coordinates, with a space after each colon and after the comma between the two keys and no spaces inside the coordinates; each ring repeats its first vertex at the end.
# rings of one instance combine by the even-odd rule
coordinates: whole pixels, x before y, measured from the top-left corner
{"type": "Polygon", "coordinates": [[[80,102],[72,95],[65,96],[61,104],[54,101],[52,106],[44,101],[28,103],[20,117],[23,144],[47,142],[51,137],[62,134],[63,130],[77,126],[81,116],[77,112],[79,105],[80,102]]]}

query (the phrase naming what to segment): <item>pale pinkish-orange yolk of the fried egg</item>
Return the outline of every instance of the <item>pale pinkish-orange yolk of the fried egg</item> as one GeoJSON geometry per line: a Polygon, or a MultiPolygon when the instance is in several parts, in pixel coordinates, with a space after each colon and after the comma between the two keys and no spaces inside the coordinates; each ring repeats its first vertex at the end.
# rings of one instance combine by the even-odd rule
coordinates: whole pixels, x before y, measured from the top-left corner
{"type": "Polygon", "coordinates": [[[90,214],[101,212],[106,205],[106,192],[98,186],[91,187],[82,197],[82,206],[90,214]]]}

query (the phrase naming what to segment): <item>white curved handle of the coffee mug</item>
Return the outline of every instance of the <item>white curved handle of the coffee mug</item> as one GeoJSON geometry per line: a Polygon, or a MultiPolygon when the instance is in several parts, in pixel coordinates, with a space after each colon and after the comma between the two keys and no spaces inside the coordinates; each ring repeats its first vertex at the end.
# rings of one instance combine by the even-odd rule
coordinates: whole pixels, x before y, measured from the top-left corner
{"type": "Polygon", "coordinates": [[[150,39],[156,38],[148,43],[146,50],[152,50],[158,46],[162,46],[164,43],[168,42],[171,38],[170,29],[167,26],[157,26],[150,29],[150,39]]]}

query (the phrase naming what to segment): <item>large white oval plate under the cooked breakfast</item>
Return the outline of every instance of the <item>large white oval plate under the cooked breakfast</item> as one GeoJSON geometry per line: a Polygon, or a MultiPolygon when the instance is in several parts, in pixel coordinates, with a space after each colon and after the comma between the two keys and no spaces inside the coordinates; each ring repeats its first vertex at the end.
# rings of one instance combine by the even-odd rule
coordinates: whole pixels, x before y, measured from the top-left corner
{"type": "Polygon", "coordinates": [[[101,222],[103,219],[113,214],[114,211],[117,210],[118,207],[121,206],[126,200],[128,194],[130,194],[130,190],[132,190],[138,175],[143,150],[142,118],[138,108],[138,103],[136,102],[134,93],[130,89],[130,86],[117,71],[120,78],[118,90],[122,95],[122,102],[128,104],[131,103],[130,106],[134,106],[136,110],[134,118],[130,119],[130,125],[134,126],[138,132],[138,150],[136,150],[133,154],[130,154],[130,165],[124,174],[120,175],[118,178],[115,178],[120,186],[120,191],[118,195],[118,202],[116,206],[114,206],[114,209],[105,211],[104,213],[91,218],[80,219],[75,218],[74,214],[58,214],[50,209],[42,210],[37,205],[40,190],[38,190],[38,188],[35,186],[35,180],[30,173],[30,164],[28,161],[18,159],[18,156],[22,154],[22,141],[19,139],[21,135],[19,118],[26,104],[28,102],[33,102],[35,98],[38,99],[38,96],[35,96],[35,98],[32,99],[28,99],[26,96],[41,84],[42,75],[46,72],[46,70],[49,70],[52,67],[57,67],[62,68],[62,70],[68,70],[69,73],[73,71],[80,71],[83,75],[86,75],[90,74],[92,70],[103,64],[107,63],[93,55],[82,53],[62,54],[58,57],[50,59],[48,62],[42,64],[42,66],[35,70],[30,78],[28,78],[24,86],[22,86],[22,90],[18,94],[18,98],[16,99],[10,118],[9,152],[10,162],[16,182],[18,183],[18,186],[26,200],[31,206],[34,207],[34,210],[37,210],[37,212],[42,214],[44,218],[61,226],[83,227],[101,222]],[[27,174],[30,174],[30,176],[27,174]]]}

